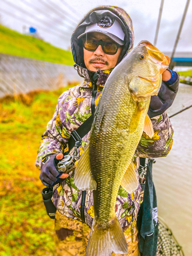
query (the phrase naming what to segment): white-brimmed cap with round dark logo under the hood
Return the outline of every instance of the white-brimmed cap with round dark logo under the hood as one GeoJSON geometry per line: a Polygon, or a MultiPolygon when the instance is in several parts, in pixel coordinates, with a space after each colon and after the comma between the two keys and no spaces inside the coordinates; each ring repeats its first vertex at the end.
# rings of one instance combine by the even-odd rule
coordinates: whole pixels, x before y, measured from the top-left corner
{"type": "Polygon", "coordinates": [[[116,19],[112,18],[111,16],[105,15],[100,19],[100,22],[95,23],[91,26],[86,27],[86,31],[79,35],[77,38],[79,39],[83,35],[90,33],[90,32],[99,32],[109,36],[112,40],[117,42],[119,45],[124,45],[124,32],[117,22],[116,19]]]}

